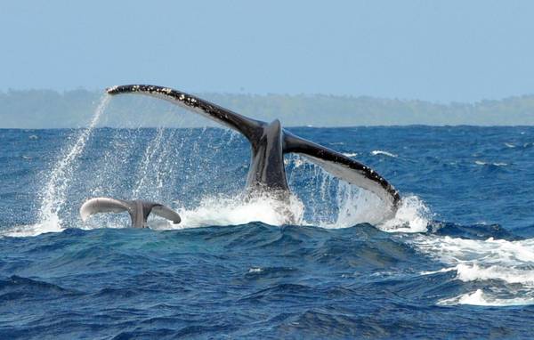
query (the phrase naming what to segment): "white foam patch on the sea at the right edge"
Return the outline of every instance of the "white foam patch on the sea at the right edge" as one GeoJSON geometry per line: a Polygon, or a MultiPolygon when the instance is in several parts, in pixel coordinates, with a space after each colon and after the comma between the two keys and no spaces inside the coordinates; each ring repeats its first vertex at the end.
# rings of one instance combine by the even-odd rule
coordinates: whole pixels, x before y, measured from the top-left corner
{"type": "MultiPolygon", "coordinates": [[[[455,279],[481,285],[475,292],[441,300],[439,304],[506,306],[534,303],[534,239],[457,239],[420,236],[414,245],[449,265],[455,279]]],[[[423,275],[440,271],[424,272],[423,275]]]]}

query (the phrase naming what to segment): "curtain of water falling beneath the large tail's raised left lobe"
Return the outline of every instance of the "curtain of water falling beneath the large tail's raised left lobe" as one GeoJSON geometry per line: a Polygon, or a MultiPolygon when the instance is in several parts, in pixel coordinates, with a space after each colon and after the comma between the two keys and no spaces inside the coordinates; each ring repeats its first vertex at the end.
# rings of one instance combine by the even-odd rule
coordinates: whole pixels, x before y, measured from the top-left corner
{"type": "MultiPolygon", "coordinates": [[[[129,114],[128,128],[97,128],[110,120],[101,119],[108,102],[109,97],[102,99],[91,124],[61,151],[46,176],[37,233],[78,227],[78,208],[87,198],[140,198],[191,209],[206,198],[237,195],[244,187],[249,147],[240,135],[181,127],[176,112],[159,117],[155,127],[142,127],[148,118],[141,112],[140,126],[132,126],[135,117],[129,114]],[[165,117],[174,118],[174,126],[165,117]]],[[[128,217],[101,215],[92,224],[126,226],[128,217]]]]}

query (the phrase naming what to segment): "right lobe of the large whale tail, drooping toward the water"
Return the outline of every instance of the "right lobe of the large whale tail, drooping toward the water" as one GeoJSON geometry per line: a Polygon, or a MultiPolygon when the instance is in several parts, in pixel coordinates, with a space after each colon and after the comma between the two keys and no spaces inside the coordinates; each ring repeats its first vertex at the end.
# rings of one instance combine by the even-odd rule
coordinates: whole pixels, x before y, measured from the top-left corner
{"type": "Polygon", "coordinates": [[[341,153],[325,148],[314,142],[306,141],[284,131],[284,153],[297,153],[322,167],[328,173],[376,194],[395,211],[401,200],[399,191],[376,171],[348,158],[341,153]]]}

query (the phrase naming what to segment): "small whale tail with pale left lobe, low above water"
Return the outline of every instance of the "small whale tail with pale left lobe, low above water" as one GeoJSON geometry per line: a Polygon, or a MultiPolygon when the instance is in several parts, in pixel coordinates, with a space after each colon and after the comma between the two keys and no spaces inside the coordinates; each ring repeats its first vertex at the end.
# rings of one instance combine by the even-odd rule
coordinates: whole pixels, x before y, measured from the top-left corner
{"type": "Polygon", "coordinates": [[[116,198],[91,198],[80,207],[80,216],[85,222],[89,216],[99,213],[127,212],[132,219],[133,228],[146,228],[150,213],[177,224],[182,221],[180,215],[168,206],[145,200],[123,200],[116,198]]]}

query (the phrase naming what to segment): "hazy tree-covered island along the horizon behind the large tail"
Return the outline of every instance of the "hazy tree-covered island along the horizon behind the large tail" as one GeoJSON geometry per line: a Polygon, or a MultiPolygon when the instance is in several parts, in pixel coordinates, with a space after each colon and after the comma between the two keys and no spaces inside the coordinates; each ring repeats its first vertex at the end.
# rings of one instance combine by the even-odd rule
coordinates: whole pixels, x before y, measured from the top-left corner
{"type": "MultiPolygon", "coordinates": [[[[102,92],[83,89],[0,92],[0,128],[71,128],[87,125],[102,92]]],[[[197,93],[225,108],[286,126],[350,125],[534,125],[534,95],[498,101],[449,104],[325,94],[197,93]]],[[[214,125],[197,115],[176,114],[165,101],[125,95],[109,102],[100,125],[214,125]]]]}

